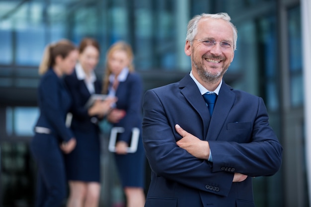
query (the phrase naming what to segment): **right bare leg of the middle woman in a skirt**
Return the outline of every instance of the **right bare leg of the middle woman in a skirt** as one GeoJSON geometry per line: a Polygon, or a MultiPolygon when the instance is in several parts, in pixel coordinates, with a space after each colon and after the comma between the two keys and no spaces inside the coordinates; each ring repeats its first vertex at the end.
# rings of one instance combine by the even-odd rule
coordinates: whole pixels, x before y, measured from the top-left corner
{"type": "Polygon", "coordinates": [[[89,182],[86,185],[87,190],[84,207],[98,207],[100,196],[100,183],[89,182]]]}

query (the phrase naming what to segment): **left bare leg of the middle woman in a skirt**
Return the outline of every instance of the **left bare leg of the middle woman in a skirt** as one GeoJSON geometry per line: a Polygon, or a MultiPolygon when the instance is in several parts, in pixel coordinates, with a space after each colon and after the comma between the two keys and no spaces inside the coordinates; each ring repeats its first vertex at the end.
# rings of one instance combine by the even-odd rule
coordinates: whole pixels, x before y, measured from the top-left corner
{"type": "Polygon", "coordinates": [[[86,196],[86,183],[82,181],[69,181],[69,190],[67,207],[83,207],[86,196]]]}

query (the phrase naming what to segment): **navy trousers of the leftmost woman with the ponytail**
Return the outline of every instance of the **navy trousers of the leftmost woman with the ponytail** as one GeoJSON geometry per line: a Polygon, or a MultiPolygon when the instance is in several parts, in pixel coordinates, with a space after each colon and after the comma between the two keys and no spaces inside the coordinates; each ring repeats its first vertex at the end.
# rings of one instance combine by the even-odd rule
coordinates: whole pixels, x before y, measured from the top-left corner
{"type": "Polygon", "coordinates": [[[36,206],[61,207],[67,196],[63,154],[57,139],[36,135],[31,149],[38,165],[36,206]]]}

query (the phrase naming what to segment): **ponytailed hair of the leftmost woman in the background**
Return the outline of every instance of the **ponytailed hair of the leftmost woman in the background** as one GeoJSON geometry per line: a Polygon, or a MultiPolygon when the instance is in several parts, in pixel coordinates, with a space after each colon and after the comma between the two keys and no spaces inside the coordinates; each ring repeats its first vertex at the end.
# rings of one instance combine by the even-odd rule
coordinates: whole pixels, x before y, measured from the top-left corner
{"type": "Polygon", "coordinates": [[[69,40],[63,39],[57,43],[49,44],[45,47],[42,60],[39,66],[39,74],[44,74],[48,69],[55,66],[57,56],[66,58],[70,52],[76,50],[76,46],[69,40]]]}

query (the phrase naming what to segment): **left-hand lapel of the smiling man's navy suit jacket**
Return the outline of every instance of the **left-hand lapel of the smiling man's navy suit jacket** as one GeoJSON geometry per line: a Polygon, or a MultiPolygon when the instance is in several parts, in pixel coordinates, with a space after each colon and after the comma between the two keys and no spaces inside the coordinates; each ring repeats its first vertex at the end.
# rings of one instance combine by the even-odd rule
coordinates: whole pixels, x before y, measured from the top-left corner
{"type": "Polygon", "coordinates": [[[180,80],[179,88],[185,99],[198,112],[202,119],[203,135],[207,134],[210,123],[210,115],[203,96],[200,93],[198,86],[195,84],[190,75],[186,75],[180,80]]]}

